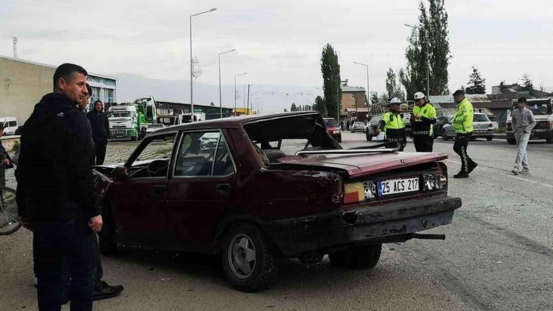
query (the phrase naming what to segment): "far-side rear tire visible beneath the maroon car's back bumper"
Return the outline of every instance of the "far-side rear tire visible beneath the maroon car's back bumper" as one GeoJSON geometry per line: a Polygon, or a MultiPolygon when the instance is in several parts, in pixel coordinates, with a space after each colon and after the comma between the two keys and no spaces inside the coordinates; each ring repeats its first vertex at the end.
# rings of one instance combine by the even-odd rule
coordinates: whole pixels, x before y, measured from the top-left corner
{"type": "Polygon", "coordinates": [[[380,260],[382,244],[363,245],[346,251],[332,252],[328,259],[333,266],[353,269],[374,268],[380,260]]]}

